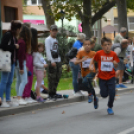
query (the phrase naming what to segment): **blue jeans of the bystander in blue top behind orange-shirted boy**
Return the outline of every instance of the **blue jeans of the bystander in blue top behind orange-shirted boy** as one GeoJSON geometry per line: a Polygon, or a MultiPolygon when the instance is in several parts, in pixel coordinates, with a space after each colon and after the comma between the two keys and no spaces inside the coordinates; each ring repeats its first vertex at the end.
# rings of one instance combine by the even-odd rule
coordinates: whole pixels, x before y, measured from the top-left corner
{"type": "Polygon", "coordinates": [[[78,92],[78,73],[80,66],[75,65],[73,62],[69,62],[69,65],[71,67],[72,73],[73,73],[73,87],[74,87],[74,92],[78,92]]]}

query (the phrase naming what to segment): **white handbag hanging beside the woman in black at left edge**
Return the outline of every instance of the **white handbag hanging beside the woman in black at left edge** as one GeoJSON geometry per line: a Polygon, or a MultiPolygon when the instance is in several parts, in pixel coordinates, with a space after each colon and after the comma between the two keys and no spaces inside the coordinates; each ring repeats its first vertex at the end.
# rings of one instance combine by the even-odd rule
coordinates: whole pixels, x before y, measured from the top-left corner
{"type": "Polygon", "coordinates": [[[0,71],[11,72],[11,52],[0,49],[0,71]]]}

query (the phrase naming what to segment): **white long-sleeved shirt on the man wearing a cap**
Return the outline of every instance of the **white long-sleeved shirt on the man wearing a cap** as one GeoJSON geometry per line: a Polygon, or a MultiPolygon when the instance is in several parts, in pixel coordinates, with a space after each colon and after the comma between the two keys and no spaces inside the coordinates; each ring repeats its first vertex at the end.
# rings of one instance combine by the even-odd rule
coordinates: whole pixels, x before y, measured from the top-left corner
{"type": "Polygon", "coordinates": [[[47,60],[51,61],[51,63],[54,62],[61,62],[61,57],[59,56],[58,58],[52,58],[51,55],[51,50],[53,51],[58,51],[58,41],[56,38],[52,38],[49,36],[45,40],[45,48],[46,48],[46,55],[47,55],[47,60]]]}

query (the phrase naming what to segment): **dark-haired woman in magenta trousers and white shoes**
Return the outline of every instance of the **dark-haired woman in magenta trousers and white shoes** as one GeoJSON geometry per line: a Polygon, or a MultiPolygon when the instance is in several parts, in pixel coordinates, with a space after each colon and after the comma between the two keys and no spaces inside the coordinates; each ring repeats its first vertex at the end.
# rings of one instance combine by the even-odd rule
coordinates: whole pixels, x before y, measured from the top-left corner
{"type": "MultiPolygon", "coordinates": [[[[28,25],[28,24],[25,24],[28,25]]],[[[29,26],[30,28],[30,26],[29,26]]],[[[38,46],[37,46],[37,30],[34,28],[31,28],[31,51],[29,51],[26,54],[26,66],[28,69],[28,83],[25,86],[24,92],[23,92],[23,98],[25,98],[25,101],[27,103],[34,103],[36,102],[31,98],[31,89],[32,89],[32,83],[33,83],[33,52],[37,52],[38,46]]]]}

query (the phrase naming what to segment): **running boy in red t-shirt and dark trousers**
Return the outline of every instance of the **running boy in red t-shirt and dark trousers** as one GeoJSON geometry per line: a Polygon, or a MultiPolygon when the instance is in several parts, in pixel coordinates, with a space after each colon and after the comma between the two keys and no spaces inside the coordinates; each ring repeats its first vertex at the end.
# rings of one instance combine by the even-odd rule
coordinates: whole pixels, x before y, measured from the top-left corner
{"type": "Polygon", "coordinates": [[[117,67],[119,58],[115,52],[111,51],[112,43],[110,39],[102,38],[101,46],[102,50],[95,54],[90,62],[89,69],[94,70],[92,64],[95,61],[98,62],[100,94],[103,98],[109,96],[107,112],[109,115],[113,115],[112,107],[115,98],[115,71],[113,67],[117,67]]]}

